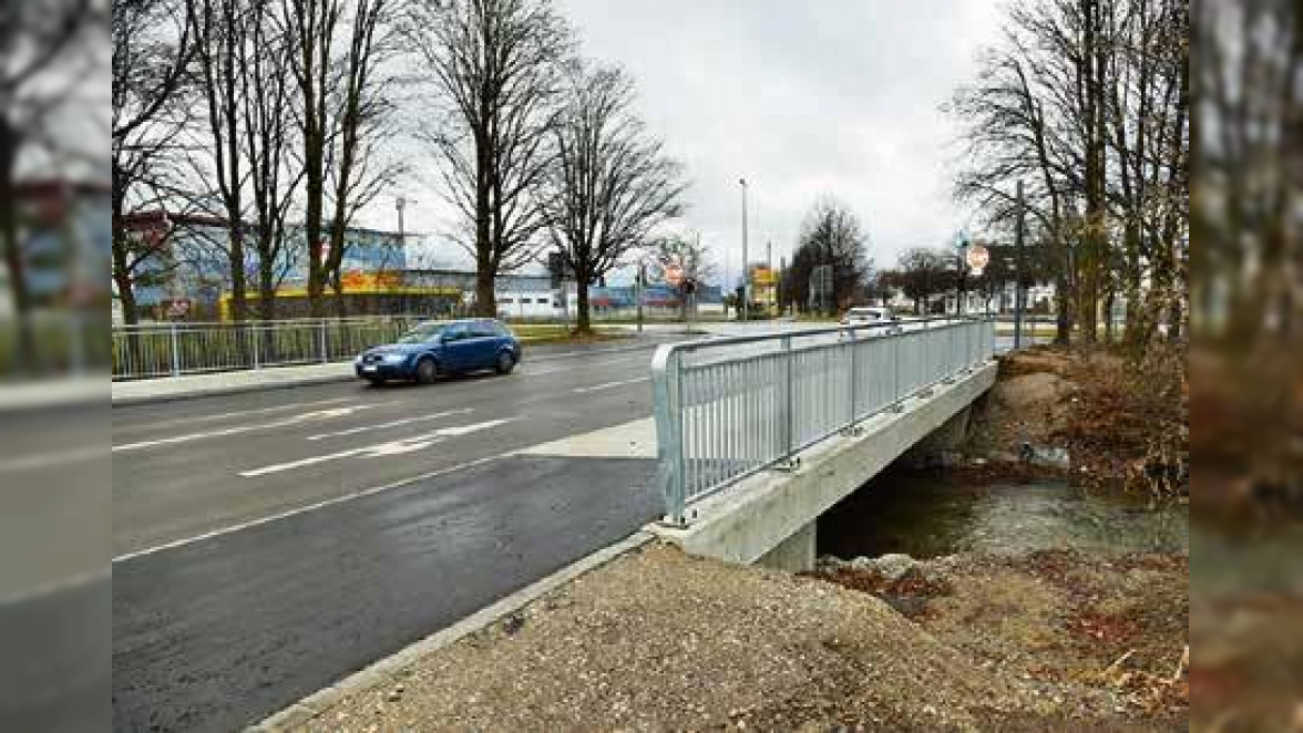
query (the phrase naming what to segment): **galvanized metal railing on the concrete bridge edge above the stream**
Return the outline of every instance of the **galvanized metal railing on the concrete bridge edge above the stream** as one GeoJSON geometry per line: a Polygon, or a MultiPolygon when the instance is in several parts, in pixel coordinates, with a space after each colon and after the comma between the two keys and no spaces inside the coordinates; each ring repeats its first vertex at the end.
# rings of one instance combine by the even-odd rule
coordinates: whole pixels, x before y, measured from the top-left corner
{"type": "Polygon", "coordinates": [[[992,358],[985,319],[661,346],[652,365],[666,522],[689,504],[992,358]]]}

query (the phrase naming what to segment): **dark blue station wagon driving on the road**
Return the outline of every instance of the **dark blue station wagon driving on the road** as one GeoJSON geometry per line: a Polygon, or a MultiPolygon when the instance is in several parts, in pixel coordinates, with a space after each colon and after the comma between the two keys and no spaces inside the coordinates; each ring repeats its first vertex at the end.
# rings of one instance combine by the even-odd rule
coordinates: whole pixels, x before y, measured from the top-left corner
{"type": "Polygon", "coordinates": [[[520,355],[520,340],[496,320],[430,320],[417,324],[394,344],[367,349],[353,367],[360,379],[371,384],[390,379],[429,384],[444,374],[489,368],[511,374],[520,355]]]}

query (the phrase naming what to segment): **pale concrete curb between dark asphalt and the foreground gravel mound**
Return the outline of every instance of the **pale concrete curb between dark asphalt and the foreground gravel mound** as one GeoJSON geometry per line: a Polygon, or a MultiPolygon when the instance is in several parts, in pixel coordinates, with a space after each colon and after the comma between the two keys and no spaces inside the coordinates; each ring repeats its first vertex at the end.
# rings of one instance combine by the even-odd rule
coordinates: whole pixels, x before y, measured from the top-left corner
{"type": "Polygon", "coordinates": [[[412,646],[403,648],[401,651],[387,656],[360,672],[354,672],[335,685],[308,695],[285,710],[268,716],[261,723],[245,728],[245,733],[279,733],[304,726],[313,719],[330,711],[330,708],[335,707],[344,697],[377,687],[379,685],[396,682],[397,680],[395,674],[408,667],[412,667],[420,661],[421,657],[427,656],[446,646],[453,644],[476,631],[487,629],[499,618],[520,611],[521,608],[538,600],[541,596],[547,595],[585,573],[597,570],[598,568],[628,552],[641,548],[654,539],[654,535],[645,530],[640,530],[628,538],[616,542],[615,544],[610,544],[597,552],[581,557],[551,575],[534,581],[507,598],[503,598],[491,605],[466,616],[452,626],[435,631],[420,642],[416,642],[412,646]]]}

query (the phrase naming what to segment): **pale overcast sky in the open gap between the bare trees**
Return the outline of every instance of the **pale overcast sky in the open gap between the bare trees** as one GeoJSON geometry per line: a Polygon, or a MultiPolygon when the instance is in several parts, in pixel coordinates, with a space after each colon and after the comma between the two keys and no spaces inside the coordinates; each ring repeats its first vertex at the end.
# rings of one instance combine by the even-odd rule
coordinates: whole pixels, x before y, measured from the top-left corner
{"type": "MultiPolygon", "coordinates": [[[[955,126],[939,109],[993,40],[994,0],[559,0],[584,56],[622,64],[649,126],[692,182],[687,228],[736,279],[741,191],[751,256],[788,254],[822,195],[848,204],[870,255],[943,245],[955,126]]],[[[435,193],[410,230],[444,227],[435,193]]],[[[383,223],[382,223],[383,224],[383,223]]]]}

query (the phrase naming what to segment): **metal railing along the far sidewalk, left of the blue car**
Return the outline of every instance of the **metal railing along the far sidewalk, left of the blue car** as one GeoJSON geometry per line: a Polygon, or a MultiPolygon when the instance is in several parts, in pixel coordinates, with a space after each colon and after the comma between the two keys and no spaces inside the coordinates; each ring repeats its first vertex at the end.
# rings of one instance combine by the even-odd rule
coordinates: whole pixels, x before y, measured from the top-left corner
{"type": "Polygon", "coordinates": [[[151,379],[348,361],[418,316],[115,325],[113,379],[151,379]]]}

